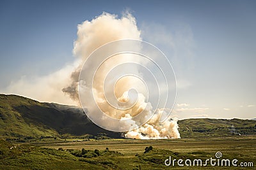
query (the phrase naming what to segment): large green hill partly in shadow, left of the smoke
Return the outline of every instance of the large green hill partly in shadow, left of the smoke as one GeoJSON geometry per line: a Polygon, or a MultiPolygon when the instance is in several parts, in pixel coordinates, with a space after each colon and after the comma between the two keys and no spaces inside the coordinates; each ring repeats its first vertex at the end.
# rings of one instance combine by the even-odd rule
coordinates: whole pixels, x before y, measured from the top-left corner
{"type": "Polygon", "coordinates": [[[54,103],[40,103],[26,97],[0,94],[0,136],[6,138],[39,138],[60,136],[97,136],[106,131],[88,120],[81,108],[54,103]]]}

